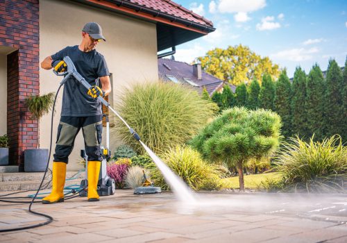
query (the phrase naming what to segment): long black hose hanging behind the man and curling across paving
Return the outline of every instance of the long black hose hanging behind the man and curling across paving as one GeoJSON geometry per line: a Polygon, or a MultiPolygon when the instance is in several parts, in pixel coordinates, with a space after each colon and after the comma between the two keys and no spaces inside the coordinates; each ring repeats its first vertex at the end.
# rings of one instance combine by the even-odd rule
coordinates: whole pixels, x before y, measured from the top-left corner
{"type": "MultiPolygon", "coordinates": [[[[51,158],[51,151],[52,151],[54,108],[56,106],[56,99],[58,97],[58,93],[59,93],[61,87],[62,87],[62,83],[60,83],[60,85],[58,87],[58,91],[56,92],[56,97],[54,97],[54,102],[53,102],[52,115],[51,115],[51,141],[50,141],[50,144],[49,144],[49,156],[48,156],[48,161],[47,161],[47,165],[46,165],[46,170],[44,171],[44,176],[42,177],[42,181],[40,183],[40,186],[37,189],[35,196],[33,196],[33,199],[31,200],[29,208],[28,208],[28,211],[31,212],[32,214],[45,217],[48,220],[46,220],[46,221],[44,221],[43,223],[40,223],[40,224],[33,224],[31,226],[23,226],[23,227],[17,227],[17,228],[6,228],[6,229],[3,229],[3,230],[0,230],[0,233],[2,233],[2,232],[9,232],[9,231],[22,231],[22,230],[26,230],[26,229],[29,229],[29,228],[36,228],[36,227],[44,226],[46,224],[50,224],[53,221],[53,217],[51,217],[49,215],[45,215],[45,214],[43,214],[41,212],[33,211],[33,210],[31,210],[31,206],[33,205],[33,203],[40,203],[40,201],[35,202],[35,199],[36,199],[37,194],[39,194],[39,192],[41,190],[42,184],[44,182],[44,178],[45,178],[46,173],[48,171],[49,160],[51,158]]],[[[15,193],[13,193],[13,194],[15,194],[15,193]]],[[[0,200],[0,201],[4,201],[4,200],[0,200]]],[[[11,201],[11,203],[16,203],[16,202],[15,201],[11,201]]],[[[17,203],[22,203],[22,202],[17,202],[17,203]]]]}

